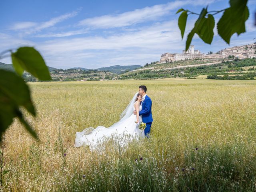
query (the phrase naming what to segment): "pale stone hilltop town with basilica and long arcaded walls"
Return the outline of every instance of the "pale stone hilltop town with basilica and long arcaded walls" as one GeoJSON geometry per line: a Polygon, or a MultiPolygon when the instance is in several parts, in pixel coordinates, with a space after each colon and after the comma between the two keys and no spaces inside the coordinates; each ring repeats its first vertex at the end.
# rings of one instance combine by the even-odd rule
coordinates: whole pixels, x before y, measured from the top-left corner
{"type": "Polygon", "coordinates": [[[216,54],[202,54],[199,50],[194,50],[194,45],[190,46],[190,49],[183,50],[182,54],[179,53],[164,53],[161,55],[160,63],[170,63],[180,60],[191,60],[191,59],[214,59],[214,58],[255,58],[256,57],[256,43],[234,46],[232,48],[226,48],[220,50],[216,54]]]}

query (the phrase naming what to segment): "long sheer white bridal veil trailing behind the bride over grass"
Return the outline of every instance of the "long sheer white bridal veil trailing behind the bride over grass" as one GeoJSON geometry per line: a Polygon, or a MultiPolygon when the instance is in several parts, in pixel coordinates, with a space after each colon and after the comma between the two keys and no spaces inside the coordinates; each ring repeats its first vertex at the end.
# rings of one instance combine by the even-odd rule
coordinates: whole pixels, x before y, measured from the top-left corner
{"type": "Polygon", "coordinates": [[[108,128],[105,128],[104,126],[98,126],[95,129],[92,127],[89,127],[84,129],[82,132],[76,132],[75,147],[80,147],[84,144],[88,144],[90,145],[90,149],[93,149],[94,146],[96,146],[96,141],[100,140],[101,138],[104,138],[104,136],[106,135],[106,132],[107,133],[112,132],[113,129],[118,130],[120,125],[133,114],[134,103],[137,98],[137,94],[138,92],[132,97],[132,100],[130,100],[128,106],[120,115],[120,120],[114,123],[112,126],[108,128]]]}

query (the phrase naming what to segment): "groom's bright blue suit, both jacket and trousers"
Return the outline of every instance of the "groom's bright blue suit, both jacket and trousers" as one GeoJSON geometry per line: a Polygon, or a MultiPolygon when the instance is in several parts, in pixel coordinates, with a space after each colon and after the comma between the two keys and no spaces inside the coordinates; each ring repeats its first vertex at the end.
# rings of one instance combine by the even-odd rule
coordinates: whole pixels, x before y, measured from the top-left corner
{"type": "Polygon", "coordinates": [[[146,123],[146,128],[144,130],[146,137],[148,137],[148,134],[150,134],[151,124],[153,122],[151,106],[152,101],[150,97],[146,95],[145,100],[142,102],[142,110],[140,111],[140,115],[142,115],[142,121],[146,123]]]}

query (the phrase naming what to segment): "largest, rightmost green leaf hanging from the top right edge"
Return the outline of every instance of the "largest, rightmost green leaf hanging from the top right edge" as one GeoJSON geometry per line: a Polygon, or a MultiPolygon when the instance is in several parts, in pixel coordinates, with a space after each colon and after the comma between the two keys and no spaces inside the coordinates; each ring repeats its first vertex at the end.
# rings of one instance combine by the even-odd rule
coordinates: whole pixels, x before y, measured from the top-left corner
{"type": "Polygon", "coordinates": [[[230,8],[224,11],[217,24],[218,34],[228,44],[234,33],[240,35],[246,32],[245,22],[249,18],[246,4],[247,0],[230,0],[230,8]]]}

